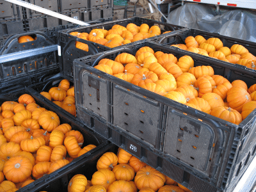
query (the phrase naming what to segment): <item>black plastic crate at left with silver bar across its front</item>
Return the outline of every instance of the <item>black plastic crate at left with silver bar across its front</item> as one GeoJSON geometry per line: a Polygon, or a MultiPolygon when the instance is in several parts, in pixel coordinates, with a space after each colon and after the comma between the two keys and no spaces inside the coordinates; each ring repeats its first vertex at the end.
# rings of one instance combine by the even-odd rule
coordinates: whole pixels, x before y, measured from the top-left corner
{"type": "Polygon", "coordinates": [[[41,76],[60,71],[58,46],[39,31],[13,35],[0,50],[1,88],[14,84],[37,83],[41,76]],[[36,40],[19,44],[19,36],[31,35],[36,40]]]}

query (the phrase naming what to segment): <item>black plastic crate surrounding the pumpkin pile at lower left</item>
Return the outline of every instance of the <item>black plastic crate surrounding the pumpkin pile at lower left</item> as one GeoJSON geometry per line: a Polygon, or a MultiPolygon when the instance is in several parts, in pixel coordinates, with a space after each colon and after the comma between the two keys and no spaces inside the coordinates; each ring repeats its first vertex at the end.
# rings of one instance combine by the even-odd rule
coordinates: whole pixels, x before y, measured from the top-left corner
{"type": "MultiPolygon", "coordinates": [[[[35,86],[35,88],[40,89],[41,86],[42,86],[42,84],[38,84],[35,86]]],[[[74,116],[67,116],[64,109],[56,109],[54,106],[49,104],[49,102],[47,102],[47,99],[45,99],[45,97],[40,95],[38,92],[36,92],[36,90],[34,90],[31,87],[30,88],[19,88],[19,89],[15,88],[15,89],[13,89],[13,91],[10,91],[9,93],[1,93],[0,101],[2,103],[6,100],[17,100],[17,99],[19,99],[19,96],[24,93],[28,93],[29,95],[31,95],[36,100],[36,104],[38,104],[42,108],[45,108],[47,110],[54,111],[55,113],[57,113],[57,115],[60,118],[61,124],[70,124],[72,126],[72,129],[80,131],[84,137],[84,143],[83,143],[82,148],[89,144],[96,145],[97,147],[93,148],[86,154],[83,154],[83,156],[77,157],[76,159],[74,159],[73,161],[68,163],[66,166],[63,166],[62,168],[56,170],[55,172],[53,172],[49,175],[44,175],[44,177],[41,177],[40,179],[35,180],[28,186],[26,186],[24,188],[20,188],[19,191],[38,191],[38,189],[37,189],[38,186],[40,186],[40,187],[45,186],[45,185],[47,186],[50,182],[52,182],[52,180],[57,179],[57,178],[59,179],[60,175],[63,177],[63,174],[62,174],[63,172],[67,173],[67,172],[74,171],[74,168],[76,168],[76,169],[78,168],[80,170],[81,167],[79,167],[79,166],[81,165],[82,162],[84,163],[84,162],[88,161],[89,159],[91,159],[91,157],[94,157],[95,155],[99,156],[99,152],[102,151],[102,148],[109,147],[108,141],[105,140],[104,138],[102,138],[102,136],[100,136],[99,134],[97,134],[95,132],[92,132],[90,129],[88,129],[88,127],[86,127],[83,124],[81,124],[80,122],[78,122],[74,116]]],[[[93,161],[93,163],[97,163],[97,162],[93,161]]],[[[63,187],[63,189],[64,189],[64,187],[67,187],[67,184],[65,186],[63,186],[64,185],[64,183],[63,183],[63,184],[61,184],[61,186],[57,186],[58,187],[57,189],[60,190],[61,187],[63,187]]],[[[53,188],[56,187],[55,184],[53,184],[52,186],[53,186],[53,188]]],[[[65,190],[67,191],[67,189],[65,189],[65,190]]]]}

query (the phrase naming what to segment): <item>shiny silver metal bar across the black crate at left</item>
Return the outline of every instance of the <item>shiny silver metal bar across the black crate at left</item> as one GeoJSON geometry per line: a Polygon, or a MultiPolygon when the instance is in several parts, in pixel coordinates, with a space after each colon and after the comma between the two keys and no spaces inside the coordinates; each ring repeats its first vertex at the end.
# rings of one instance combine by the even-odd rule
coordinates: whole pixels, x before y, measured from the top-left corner
{"type": "Polygon", "coordinates": [[[19,60],[22,58],[28,58],[28,57],[35,56],[38,54],[44,54],[47,52],[52,52],[52,51],[57,51],[57,50],[58,50],[58,45],[50,45],[50,46],[43,47],[43,48],[41,47],[41,48],[36,48],[36,49],[29,49],[26,51],[19,51],[19,52],[13,52],[10,54],[4,54],[3,56],[0,56],[0,63],[19,60]]]}

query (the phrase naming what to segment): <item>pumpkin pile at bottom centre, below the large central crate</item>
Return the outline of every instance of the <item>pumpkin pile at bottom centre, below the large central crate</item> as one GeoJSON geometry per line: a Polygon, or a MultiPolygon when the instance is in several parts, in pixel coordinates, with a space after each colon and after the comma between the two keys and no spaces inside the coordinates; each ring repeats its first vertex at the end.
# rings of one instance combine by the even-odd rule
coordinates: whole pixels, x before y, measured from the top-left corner
{"type": "Polygon", "coordinates": [[[97,161],[92,180],[77,174],[68,183],[68,192],[191,192],[170,177],[119,148],[117,155],[104,153],[97,161]]]}

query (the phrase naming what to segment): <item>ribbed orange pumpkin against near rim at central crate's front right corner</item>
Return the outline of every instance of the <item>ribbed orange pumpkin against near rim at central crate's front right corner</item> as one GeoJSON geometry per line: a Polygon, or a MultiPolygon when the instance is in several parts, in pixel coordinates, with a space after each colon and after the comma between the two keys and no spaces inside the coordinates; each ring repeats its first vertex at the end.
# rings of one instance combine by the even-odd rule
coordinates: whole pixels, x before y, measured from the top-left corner
{"type": "Polygon", "coordinates": [[[238,111],[223,106],[212,109],[211,115],[226,120],[232,124],[238,125],[242,122],[242,116],[238,111]]]}

